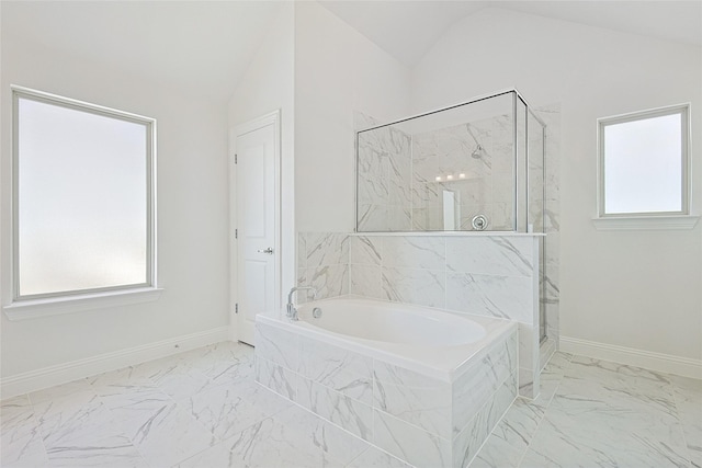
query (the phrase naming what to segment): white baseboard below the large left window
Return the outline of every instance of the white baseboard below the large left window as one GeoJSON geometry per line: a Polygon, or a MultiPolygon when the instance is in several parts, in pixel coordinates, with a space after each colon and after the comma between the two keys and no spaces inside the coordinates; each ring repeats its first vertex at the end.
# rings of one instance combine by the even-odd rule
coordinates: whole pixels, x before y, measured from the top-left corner
{"type": "Polygon", "coordinates": [[[0,380],[2,399],[66,384],[109,370],[158,359],[195,347],[229,340],[229,327],[219,327],[141,346],[101,354],[70,363],[18,374],[0,380]]]}

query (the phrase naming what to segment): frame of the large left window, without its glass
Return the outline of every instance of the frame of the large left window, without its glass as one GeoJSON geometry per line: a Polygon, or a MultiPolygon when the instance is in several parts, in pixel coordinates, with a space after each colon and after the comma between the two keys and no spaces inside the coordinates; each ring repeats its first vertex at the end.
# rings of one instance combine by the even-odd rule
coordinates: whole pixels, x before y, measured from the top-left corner
{"type": "MultiPolygon", "coordinates": [[[[157,246],[156,246],[156,119],[137,115],[98,104],[78,101],[56,94],[46,93],[24,87],[11,85],[12,91],[12,216],[11,216],[11,274],[10,286],[12,290],[12,304],[5,306],[5,312],[12,309],[38,308],[38,315],[53,315],[66,312],[67,306],[76,306],[77,303],[84,303],[91,308],[100,307],[100,298],[109,298],[110,301],[133,304],[134,298],[127,296],[148,296],[147,300],[152,300],[152,292],[160,292],[157,287],[157,246]],[[105,116],[124,122],[131,122],[146,127],[146,282],[120,286],[105,286],[89,289],[64,290],[56,293],[43,293],[32,295],[20,295],[20,249],[19,249],[19,102],[20,100],[31,100],[45,104],[56,105],[73,111],[105,116]],[[59,306],[58,311],[50,312],[52,306],[59,306]],[[47,307],[48,306],[48,307],[47,307]],[[49,310],[48,313],[46,311],[49,310]]],[[[110,306],[110,301],[105,306],[110,306]]],[[[137,301],[140,301],[137,299],[137,301]]],[[[78,306],[76,310],[84,310],[78,306]]],[[[73,310],[69,310],[73,311],[73,310]]],[[[34,313],[31,316],[35,316],[34,313]]],[[[10,313],[8,313],[11,317],[10,313]]],[[[12,317],[11,317],[12,318],[12,317]]],[[[15,317],[16,318],[16,317],[15,317]]]]}

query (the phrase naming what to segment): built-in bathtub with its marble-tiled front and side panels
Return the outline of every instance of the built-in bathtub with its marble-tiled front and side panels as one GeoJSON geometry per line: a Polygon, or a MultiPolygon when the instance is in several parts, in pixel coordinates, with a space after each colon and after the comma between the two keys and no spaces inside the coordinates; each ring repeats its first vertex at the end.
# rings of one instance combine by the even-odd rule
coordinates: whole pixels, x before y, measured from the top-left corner
{"type": "Polygon", "coordinates": [[[257,381],[411,465],[465,467],[517,396],[514,322],[352,297],[298,318],[257,316],[257,381]]]}

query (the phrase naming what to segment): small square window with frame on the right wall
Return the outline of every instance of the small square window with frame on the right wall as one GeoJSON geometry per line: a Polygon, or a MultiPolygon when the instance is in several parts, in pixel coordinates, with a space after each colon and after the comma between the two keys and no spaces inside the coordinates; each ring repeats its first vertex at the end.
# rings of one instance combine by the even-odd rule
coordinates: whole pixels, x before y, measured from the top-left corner
{"type": "Polygon", "coordinates": [[[688,215],[689,105],[599,122],[599,215],[688,215]]]}

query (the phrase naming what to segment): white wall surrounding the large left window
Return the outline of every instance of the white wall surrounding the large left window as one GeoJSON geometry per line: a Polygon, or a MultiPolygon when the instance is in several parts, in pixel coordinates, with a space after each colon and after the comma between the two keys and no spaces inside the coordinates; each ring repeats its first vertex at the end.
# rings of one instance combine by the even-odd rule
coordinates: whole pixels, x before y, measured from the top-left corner
{"type": "MultiPolygon", "coordinates": [[[[2,20],[10,21],[7,14],[2,20]]],[[[10,271],[13,83],[158,121],[158,272],[165,288],[158,301],[143,305],[24,321],[2,313],[2,378],[226,327],[226,104],[14,41],[5,28],[1,53],[2,272],[10,271]]],[[[1,293],[9,304],[7,274],[1,293]]]]}

